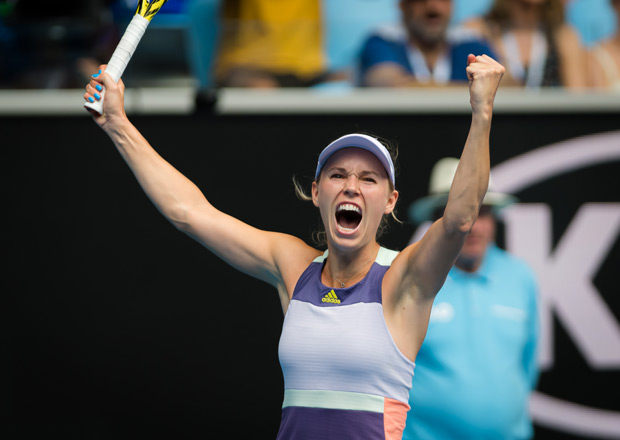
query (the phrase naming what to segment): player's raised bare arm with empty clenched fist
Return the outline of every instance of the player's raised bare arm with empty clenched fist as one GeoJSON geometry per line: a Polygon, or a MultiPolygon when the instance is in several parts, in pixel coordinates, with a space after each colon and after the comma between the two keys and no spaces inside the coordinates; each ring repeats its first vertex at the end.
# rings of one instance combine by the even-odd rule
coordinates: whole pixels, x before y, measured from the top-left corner
{"type": "Polygon", "coordinates": [[[400,253],[384,282],[387,313],[406,323],[403,337],[414,334],[419,344],[433,299],[476,221],[489,182],[491,117],[504,67],[486,55],[469,55],[467,61],[472,120],[444,215],[400,253]]]}

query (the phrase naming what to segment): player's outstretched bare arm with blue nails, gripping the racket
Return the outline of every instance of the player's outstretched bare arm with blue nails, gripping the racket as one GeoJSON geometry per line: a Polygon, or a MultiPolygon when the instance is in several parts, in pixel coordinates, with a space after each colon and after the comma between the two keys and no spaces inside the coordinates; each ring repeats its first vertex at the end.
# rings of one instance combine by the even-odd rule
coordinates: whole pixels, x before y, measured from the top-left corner
{"type": "Polygon", "coordinates": [[[91,112],[129,165],[157,209],[177,227],[227,263],[278,288],[286,306],[288,291],[316,251],[294,237],[255,229],[215,209],[189,179],[166,162],[127,118],[124,86],[104,73],[86,87],[85,99],[106,88],[104,112],[91,112]],[[297,273],[299,272],[299,273],[297,273]]]}

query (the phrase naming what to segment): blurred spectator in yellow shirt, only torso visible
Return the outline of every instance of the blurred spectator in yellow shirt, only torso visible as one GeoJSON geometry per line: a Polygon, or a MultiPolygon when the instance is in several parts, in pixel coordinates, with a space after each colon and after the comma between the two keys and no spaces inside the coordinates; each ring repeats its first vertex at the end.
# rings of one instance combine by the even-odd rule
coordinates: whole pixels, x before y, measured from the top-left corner
{"type": "Polygon", "coordinates": [[[320,0],[226,0],[220,24],[220,87],[308,87],[331,79],[320,0]]]}

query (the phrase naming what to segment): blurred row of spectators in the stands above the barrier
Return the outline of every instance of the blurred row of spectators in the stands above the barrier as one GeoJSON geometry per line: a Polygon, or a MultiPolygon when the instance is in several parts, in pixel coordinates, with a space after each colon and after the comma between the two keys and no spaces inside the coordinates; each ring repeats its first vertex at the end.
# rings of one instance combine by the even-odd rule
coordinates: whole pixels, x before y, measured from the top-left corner
{"type": "MultiPolygon", "coordinates": [[[[0,87],[81,88],[136,1],[0,0],[0,87]]],[[[505,85],[620,90],[620,0],[168,0],[159,14],[184,17],[178,52],[202,89],[455,86],[467,53],[486,53],[505,85]]]]}

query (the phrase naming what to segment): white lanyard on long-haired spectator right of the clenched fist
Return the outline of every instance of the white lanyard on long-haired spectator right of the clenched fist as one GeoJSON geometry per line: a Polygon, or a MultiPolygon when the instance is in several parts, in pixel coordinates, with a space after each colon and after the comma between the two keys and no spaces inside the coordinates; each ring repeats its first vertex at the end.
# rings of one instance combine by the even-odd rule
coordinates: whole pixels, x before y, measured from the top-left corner
{"type": "Polygon", "coordinates": [[[506,64],[513,78],[522,81],[526,87],[540,87],[542,85],[545,63],[547,61],[547,39],[544,34],[537,30],[532,35],[530,47],[530,66],[525,75],[525,68],[519,56],[519,46],[513,32],[505,32],[502,35],[502,43],[506,50],[506,64]]]}

